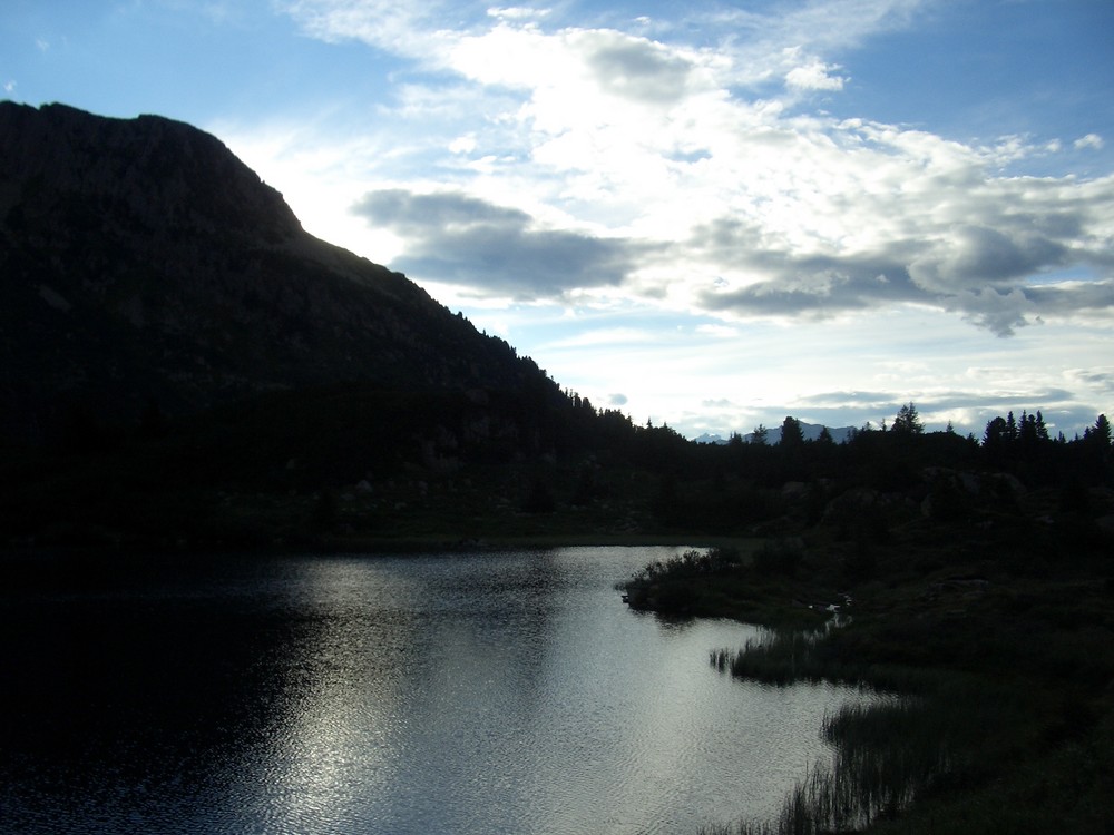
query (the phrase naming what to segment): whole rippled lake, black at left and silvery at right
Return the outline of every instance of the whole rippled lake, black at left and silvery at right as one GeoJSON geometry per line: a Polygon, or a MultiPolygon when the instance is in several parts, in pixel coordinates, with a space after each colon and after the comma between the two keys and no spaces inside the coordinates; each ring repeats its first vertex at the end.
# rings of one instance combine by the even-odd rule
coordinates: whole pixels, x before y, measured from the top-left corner
{"type": "Polygon", "coordinates": [[[677,549],[47,563],[0,588],[4,833],[694,833],[772,814],[851,690],[615,591],[677,549]]]}

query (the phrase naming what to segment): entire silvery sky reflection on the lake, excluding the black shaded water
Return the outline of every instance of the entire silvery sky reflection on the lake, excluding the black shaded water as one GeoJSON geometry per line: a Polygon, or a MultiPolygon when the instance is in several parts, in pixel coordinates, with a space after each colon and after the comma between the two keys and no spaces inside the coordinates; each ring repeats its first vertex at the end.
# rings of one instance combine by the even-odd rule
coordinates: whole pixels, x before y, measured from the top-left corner
{"type": "Polygon", "coordinates": [[[772,811],[844,694],[721,676],[709,650],[755,630],[628,611],[612,586],[634,566],[615,556],[306,563],[255,814],[291,832],[634,833],[772,811]]]}

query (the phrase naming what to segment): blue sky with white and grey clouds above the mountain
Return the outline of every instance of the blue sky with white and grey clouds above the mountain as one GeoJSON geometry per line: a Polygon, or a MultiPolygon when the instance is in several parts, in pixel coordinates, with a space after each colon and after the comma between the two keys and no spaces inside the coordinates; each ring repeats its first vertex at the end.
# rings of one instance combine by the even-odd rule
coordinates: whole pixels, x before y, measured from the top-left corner
{"type": "Polygon", "coordinates": [[[1114,414],[1111,0],[4,0],[0,88],[214,134],[638,424],[1114,414]]]}

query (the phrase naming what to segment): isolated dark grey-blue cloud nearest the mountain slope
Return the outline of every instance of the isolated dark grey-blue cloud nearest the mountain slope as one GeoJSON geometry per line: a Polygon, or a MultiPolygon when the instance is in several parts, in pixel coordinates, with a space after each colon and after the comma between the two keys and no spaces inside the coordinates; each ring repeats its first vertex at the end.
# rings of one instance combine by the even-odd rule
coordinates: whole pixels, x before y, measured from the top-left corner
{"type": "Polygon", "coordinates": [[[519,209],[462,194],[369,193],[352,212],[405,242],[392,266],[410,275],[518,299],[615,286],[652,247],[536,229],[519,209]]]}

